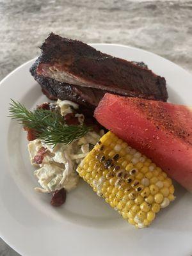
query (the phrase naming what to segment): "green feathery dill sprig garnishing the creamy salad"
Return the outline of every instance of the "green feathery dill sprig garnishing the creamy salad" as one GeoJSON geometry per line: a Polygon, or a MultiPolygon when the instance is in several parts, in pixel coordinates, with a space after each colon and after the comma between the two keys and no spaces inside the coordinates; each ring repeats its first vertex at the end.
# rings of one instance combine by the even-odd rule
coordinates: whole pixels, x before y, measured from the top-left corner
{"type": "Polygon", "coordinates": [[[32,129],[36,138],[40,138],[47,145],[70,144],[83,137],[91,129],[81,124],[66,125],[63,116],[58,111],[42,108],[29,111],[24,105],[14,100],[10,103],[9,111],[8,117],[19,121],[23,127],[32,129]]]}

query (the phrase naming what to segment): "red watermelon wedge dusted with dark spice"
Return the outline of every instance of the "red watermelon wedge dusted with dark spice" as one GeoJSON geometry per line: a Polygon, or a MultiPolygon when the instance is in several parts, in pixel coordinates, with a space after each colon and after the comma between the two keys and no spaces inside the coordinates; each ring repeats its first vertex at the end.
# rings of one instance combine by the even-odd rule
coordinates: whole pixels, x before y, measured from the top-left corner
{"type": "Polygon", "coordinates": [[[95,118],[192,191],[190,108],[106,93],[95,109],[95,118]]]}

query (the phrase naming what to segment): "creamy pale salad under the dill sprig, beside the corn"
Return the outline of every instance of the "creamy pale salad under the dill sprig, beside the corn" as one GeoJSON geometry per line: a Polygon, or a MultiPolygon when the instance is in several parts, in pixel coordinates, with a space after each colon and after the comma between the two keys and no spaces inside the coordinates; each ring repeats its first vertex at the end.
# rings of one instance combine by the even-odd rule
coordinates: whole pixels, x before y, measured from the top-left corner
{"type": "MultiPolygon", "coordinates": [[[[58,100],[56,105],[60,107],[63,116],[78,108],[76,103],[69,100],[58,100]]],[[[76,114],[76,116],[78,116],[79,122],[81,121],[81,124],[83,124],[84,116],[82,114],[76,114]]],[[[41,186],[41,188],[35,188],[35,190],[50,193],[61,188],[65,188],[67,191],[76,188],[79,181],[79,175],[76,172],[77,164],[81,163],[103,133],[102,130],[100,134],[90,131],[82,138],[72,141],[69,145],[58,143],[55,147],[43,144],[40,139],[29,141],[29,157],[31,164],[37,167],[34,175],[41,186]],[[34,157],[42,147],[45,148],[42,163],[34,163],[34,157]]]]}

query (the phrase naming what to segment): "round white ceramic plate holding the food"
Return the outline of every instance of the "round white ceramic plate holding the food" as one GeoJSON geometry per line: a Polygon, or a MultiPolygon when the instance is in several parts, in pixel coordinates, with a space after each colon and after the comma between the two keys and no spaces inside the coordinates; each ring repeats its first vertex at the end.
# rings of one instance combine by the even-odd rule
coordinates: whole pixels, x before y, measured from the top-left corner
{"type": "MultiPolygon", "coordinates": [[[[123,45],[93,44],[102,52],[144,61],[167,81],[170,102],[192,104],[192,76],[155,54],[123,45]]],[[[52,255],[192,255],[192,195],[179,185],[177,199],[163,209],[150,228],[126,223],[85,182],[54,208],[50,197],[35,193],[26,134],[8,115],[10,98],[29,109],[47,100],[25,63],[0,86],[0,234],[23,256],[52,255]]]]}

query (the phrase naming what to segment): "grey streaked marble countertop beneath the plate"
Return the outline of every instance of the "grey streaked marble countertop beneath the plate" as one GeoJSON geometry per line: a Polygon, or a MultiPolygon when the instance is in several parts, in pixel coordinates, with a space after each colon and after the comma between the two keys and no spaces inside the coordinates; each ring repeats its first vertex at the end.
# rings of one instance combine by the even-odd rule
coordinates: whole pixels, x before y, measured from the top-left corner
{"type": "MultiPolygon", "coordinates": [[[[192,1],[0,0],[0,79],[34,58],[53,31],[155,52],[192,72],[192,1]]],[[[0,240],[1,256],[16,256],[0,240]]]]}

